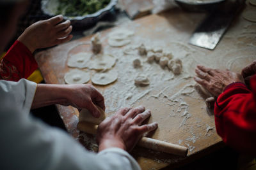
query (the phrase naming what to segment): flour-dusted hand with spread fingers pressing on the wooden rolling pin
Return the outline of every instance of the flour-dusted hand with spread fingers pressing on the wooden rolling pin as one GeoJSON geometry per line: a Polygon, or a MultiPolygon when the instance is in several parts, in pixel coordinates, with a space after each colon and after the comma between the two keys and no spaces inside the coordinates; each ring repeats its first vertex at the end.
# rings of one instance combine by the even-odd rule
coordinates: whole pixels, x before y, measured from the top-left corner
{"type": "Polygon", "coordinates": [[[131,151],[145,132],[157,128],[156,122],[141,125],[150,115],[150,110],[145,110],[143,106],[139,106],[137,108],[123,108],[112,117],[106,118],[97,130],[96,139],[99,143],[99,151],[111,147],[131,151]]]}

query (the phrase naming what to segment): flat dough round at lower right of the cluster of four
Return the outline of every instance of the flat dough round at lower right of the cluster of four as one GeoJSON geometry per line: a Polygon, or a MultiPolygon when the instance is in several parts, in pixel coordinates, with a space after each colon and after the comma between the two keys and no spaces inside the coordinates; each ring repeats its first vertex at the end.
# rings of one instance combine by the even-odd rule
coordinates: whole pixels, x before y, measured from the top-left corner
{"type": "Polygon", "coordinates": [[[118,73],[114,70],[109,70],[104,73],[95,73],[92,76],[92,83],[95,85],[108,85],[113,83],[118,78],[118,73]]]}

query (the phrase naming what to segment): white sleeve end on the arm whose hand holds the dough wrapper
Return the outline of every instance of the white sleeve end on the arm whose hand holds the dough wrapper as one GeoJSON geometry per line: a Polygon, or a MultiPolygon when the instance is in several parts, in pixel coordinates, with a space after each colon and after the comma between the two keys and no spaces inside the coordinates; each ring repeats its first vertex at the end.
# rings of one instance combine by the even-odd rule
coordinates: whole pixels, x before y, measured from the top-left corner
{"type": "Polygon", "coordinates": [[[21,79],[18,82],[0,80],[0,102],[15,107],[20,113],[29,113],[36,91],[36,83],[21,79]]]}

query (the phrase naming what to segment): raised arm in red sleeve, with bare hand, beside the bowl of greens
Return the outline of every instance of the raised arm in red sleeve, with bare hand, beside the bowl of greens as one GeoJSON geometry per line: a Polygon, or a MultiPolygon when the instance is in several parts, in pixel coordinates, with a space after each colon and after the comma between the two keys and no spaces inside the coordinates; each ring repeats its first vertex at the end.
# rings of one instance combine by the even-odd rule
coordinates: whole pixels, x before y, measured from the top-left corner
{"type": "Polygon", "coordinates": [[[38,48],[65,43],[72,38],[70,21],[58,15],[30,25],[0,60],[0,80],[28,78],[38,67],[33,52],[38,48]]]}

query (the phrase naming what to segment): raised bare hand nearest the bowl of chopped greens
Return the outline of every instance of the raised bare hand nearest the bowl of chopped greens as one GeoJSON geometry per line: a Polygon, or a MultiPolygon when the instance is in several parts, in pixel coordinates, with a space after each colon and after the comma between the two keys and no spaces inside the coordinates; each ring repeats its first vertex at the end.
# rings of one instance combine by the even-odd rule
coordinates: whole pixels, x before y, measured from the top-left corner
{"type": "Polygon", "coordinates": [[[26,45],[33,53],[38,48],[46,48],[49,46],[65,43],[72,38],[69,35],[72,31],[70,20],[61,22],[62,15],[41,20],[30,25],[18,38],[20,42],[26,45]]]}

